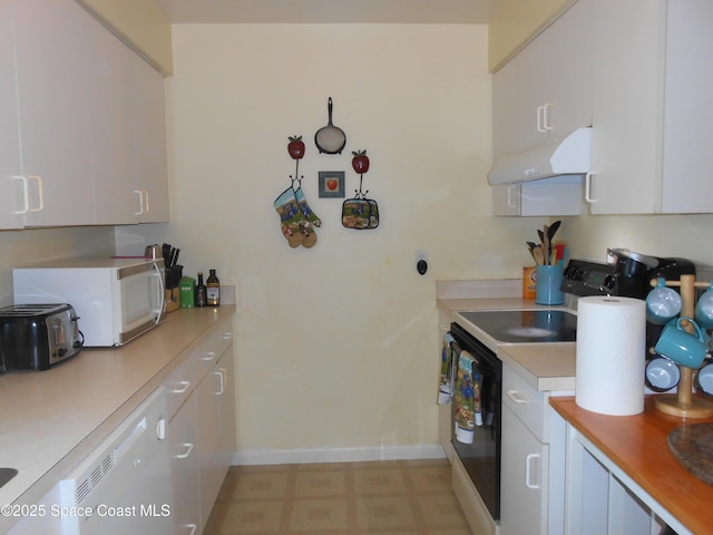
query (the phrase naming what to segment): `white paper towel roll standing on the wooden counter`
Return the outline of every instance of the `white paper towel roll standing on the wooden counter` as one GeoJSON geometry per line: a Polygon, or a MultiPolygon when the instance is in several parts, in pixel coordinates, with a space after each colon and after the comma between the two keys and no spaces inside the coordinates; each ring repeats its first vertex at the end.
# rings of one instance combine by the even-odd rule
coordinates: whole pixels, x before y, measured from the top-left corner
{"type": "Polygon", "coordinates": [[[646,303],[589,296],[577,302],[576,403],[613,416],[644,410],[646,303]]]}

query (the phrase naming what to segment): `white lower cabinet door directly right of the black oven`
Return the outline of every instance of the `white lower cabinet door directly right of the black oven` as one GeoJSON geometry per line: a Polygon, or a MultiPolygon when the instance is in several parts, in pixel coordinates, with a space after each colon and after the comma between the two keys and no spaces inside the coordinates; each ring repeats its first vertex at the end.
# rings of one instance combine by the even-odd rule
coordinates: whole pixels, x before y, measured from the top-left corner
{"type": "Polygon", "coordinates": [[[548,449],[502,403],[502,535],[547,533],[548,449]]]}

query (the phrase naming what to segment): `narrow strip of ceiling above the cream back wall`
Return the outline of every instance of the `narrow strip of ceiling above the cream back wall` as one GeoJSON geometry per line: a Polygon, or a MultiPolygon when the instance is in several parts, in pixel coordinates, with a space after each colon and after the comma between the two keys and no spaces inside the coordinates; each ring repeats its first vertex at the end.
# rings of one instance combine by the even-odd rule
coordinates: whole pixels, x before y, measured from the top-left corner
{"type": "Polygon", "coordinates": [[[172,23],[487,23],[500,0],[154,0],[172,23]]]}

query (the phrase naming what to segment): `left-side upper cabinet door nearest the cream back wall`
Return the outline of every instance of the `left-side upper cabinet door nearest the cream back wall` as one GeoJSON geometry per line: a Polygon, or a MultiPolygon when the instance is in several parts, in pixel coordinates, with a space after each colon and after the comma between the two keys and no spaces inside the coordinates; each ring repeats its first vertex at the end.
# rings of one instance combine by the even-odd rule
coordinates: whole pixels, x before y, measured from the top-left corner
{"type": "Polygon", "coordinates": [[[168,169],[164,78],[139,57],[131,64],[131,179],[139,223],[168,221],[168,169]]]}

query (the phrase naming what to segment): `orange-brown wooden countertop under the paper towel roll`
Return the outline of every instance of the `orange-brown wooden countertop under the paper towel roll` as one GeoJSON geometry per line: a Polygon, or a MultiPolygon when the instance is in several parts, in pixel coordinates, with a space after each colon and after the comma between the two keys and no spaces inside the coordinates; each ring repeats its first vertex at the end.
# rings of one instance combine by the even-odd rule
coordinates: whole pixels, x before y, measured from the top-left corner
{"type": "MultiPolygon", "coordinates": [[[[712,419],[683,419],[665,415],[647,396],[635,416],[606,416],[578,407],[574,397],[550,398],[565,420],[592,441],[634,481],[695,534],[713,531],[713,487],[691,475],[668,450],[667,437],[686,424],[712,419]]],[[[713,459],[712,459],[713,461],[713,459]]]]}

